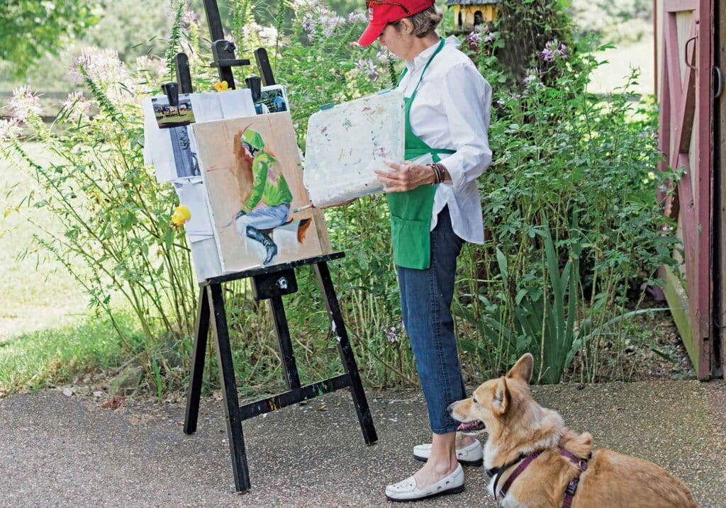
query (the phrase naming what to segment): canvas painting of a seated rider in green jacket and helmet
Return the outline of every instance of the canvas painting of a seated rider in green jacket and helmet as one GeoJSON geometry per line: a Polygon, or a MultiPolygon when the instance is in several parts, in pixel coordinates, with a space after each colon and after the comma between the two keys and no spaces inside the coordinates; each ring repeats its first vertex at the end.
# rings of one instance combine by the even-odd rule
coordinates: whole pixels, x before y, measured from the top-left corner
{"type": "Polygon", "coordinates": [[[309,197],[289,112],[196,123],[198,157],[223,271],[330,252],[309,197]]]}

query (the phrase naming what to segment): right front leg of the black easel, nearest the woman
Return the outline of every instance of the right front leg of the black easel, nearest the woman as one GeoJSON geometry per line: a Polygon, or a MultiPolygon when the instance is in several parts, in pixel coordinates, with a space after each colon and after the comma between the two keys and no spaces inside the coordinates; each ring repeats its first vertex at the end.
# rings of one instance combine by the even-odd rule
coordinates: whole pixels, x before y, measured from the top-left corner
{"type": "Polygon", "coordinates": [[[338,298],[335,296],[333,279],[330,279],[330,270],[327,268],[327,263],[325,261],[316,263],[315,273],[325,295],[327,315],[333,321],[335,325],[334,332],[338,335],[338,353],[340,353],[340,359],[343,361],[343,366],[345,366],[346,373],[351,380],[351,395],[356,406],[356,413],[358,414],[358,421],[361,425],[363,438],[366,444],[373,444],[378,441],[378,435],[375,433],[373,417],[370,414],[368,401],[363,391],[363,384],[358,374],[358,365],[353,356],[353,349],[351,349],[351,344],[348,341],[348,332],[346,331],[345,323],[343,323],[343,316],[340,314],[338,298]]]}

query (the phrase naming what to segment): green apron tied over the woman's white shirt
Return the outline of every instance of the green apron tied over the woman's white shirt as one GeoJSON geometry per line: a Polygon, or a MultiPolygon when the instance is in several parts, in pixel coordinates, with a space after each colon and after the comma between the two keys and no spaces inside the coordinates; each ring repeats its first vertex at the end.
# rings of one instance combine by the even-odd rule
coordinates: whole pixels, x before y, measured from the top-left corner
{"type": "MultiPolygon", "coordinates": [[[[440,153],[451,154],[454,150],[431,148],[421,139],[417,138],[411,130],[409,112],[411,104],[416,97],[418,87],[423,75],[437,54],[444,47],[441,39],[439,47],[433,52],[423,67],[421,78],[416,84],[411,97],[404,97],[406,137],[404,159],[412,160],[427,153],[431,154],[433,162],[439,162],[440,153]]],[[[399,78],[399,83],[406,75],[407,68],[399,78]]],[[[398,266],[413,269],[428,269],[431,266],[431,213],[433,211],[433,196],[436,194],[436,185],[420,185],[406,192],[389,192],[388,207],[391,210],[391,239],[393,241],[393,262],[398,266]]]]}

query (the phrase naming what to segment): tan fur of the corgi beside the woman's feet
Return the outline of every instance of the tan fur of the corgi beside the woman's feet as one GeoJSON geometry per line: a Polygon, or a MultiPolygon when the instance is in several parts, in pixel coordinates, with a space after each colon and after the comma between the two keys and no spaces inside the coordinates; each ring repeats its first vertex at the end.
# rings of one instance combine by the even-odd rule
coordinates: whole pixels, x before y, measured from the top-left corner
{"type": "MultiPolygon", "coordinates": [[[[505,377],[489,380],[473,397],[454,403],[452,417],[460,422],[481,420],[489,437],[484,467],[502,466],[519,454],[543,450],[519,475],[502,500],[505,508],[560,508],[568,483],[579,468],[560,455],[564,448],[580,458],[592,451],[592,435],[565,427],[560,414],[539,406],[531,397],[534,360],[527,353],[505,377]],[[475,402],[476,399],[476,402],[475,402]]],[[[498,488],[515,467],[502,473],[498,488]]],[[[688,486],[651,462],[600,449],[580,476],[573,508],[691,508],[696,501],[688,486]]]]}

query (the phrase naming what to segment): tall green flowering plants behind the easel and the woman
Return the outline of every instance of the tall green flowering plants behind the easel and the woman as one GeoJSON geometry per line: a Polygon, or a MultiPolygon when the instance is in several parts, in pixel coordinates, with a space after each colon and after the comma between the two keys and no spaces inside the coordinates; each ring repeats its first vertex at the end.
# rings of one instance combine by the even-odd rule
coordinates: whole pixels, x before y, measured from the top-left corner
{"type": "MultiPolygon", "coordinates": [[[[265,46],[272,55],[278,80],[288,86],[301,144],[306,119],[319,104],[395,82],[400,64],[390,55],[349,44],[365,16],[347,15],[346,2],[240,0],[229,6],[229,38],[241,52],[265,46]]],[[[75,371],[47,377],[33,372],[37,356],[16,340],[20,349],[6,349],[6,355],[23,361],[6,362],[5,374],[0,369],[10,389],[129,362],[145,369],[158,393],[184,384],[196,290],[186,238],[168,221],[174,192],[142,165],[138,103],[168,80],[168,62],[180,49],[195,69],[195,89],[211,89],[216,81],[204,67],[208,43],[194,7],[181,2],[168,9],[171,28],[163,41],[150,36],[118,52],[71,47],[74,86],[84,92],[63,102],[53,126],[40,122],[39,99],[30,89],[20,89],[9,103],[12,117],[0,129],[9,141],[5,154],[35,184],[7,192],[6,216],[34,209],[49,218],[30,219],[35,242],[23,253],[40,265],[60,263],[90,297],[107,333],[119,339],[105,354],[78,353],[85,360],[76,359],[75,371]],[[34,133],[41,157],[13,139],[21,128],[34,133]]],[[[511,1],[505,7],[507,20],[529,24],[503,22],[470,34],[464,45],[494,86],[489,135],[496,155],[479,181],[488,241],[465,248],[457,277],[454,311],[465,374],[480,380],[531,351],[545,382],[627,378],[623,353],[632,335],[642,335],[637,321],[627,318],[643,312],[641,283],[656,283],[656,267],[672,263],[677,247],[654,200],[656,186],[672,177],[651,173],[658,158],[656,110],[652,102],[630,101],[637,73],[606,97],[590,92],[601,65],[597,55],[608,47],[578,36],[563,4],[511,1]],[[502,57],[513,47],[526,52],[502,57]]],[[[100,37],[110,36],[111,28],[140,36],[149,29],[141,9],[140,3],[129,6],[110,25],[102,18],[88,40],[105,44],[100,37]]],[[[367,197],[330,210],[327,218],[335,247],[347,253],[334,273],[364,379],[377,386],[415,384],[386,207],[380,197],[367,197]]],[[[301,375],[312,380],[340,366],[314,279],[304,272],[300,277],[301,290],[286,306],[301,375]]],[[[276,390],[280,359],[269,311],[251,298],[245,282],[229,284],[227,302],[242,389],[276,390]]],[[[653,347],[648,341],[640,346],[653,347]]],[[[213,386],[216,366],[210,365],[213,386]]]]}

